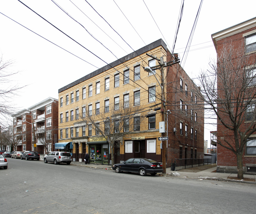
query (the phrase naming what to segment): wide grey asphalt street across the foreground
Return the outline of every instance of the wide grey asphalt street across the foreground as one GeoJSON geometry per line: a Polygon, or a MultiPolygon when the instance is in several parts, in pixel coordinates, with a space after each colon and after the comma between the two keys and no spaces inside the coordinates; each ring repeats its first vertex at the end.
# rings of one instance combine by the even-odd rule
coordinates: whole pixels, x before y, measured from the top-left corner
{"type": "Polygon", "coordinates": [[[256,185],[7,158],[1,213],[255,213],[256,185]]]}

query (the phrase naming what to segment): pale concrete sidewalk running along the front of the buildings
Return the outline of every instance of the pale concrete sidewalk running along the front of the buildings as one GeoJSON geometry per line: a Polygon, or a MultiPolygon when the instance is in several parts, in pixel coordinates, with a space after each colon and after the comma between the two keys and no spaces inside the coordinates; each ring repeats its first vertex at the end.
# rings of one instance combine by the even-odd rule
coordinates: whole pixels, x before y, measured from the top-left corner
{"type": "MultiPolygon", "coordinates": [[[[71,165],[112,170],[111,165],[84,164],[84,162],[71,162],[71,165]]],[[[199,171],[199,172],[171,171],[171,168],[167,168],[166,174],[160,173],[159,175],[175,176],[175,177],[183,177],[183,178],[207,179],[207,180],[223,180],[223,181],[233,181],[233,182],[256,184],[255,181],[228,179],[228,177],[237,177],[237,174],[213,172],[213,171],[216,171],[216,168],[217,167],[215,166],[213,168],[206,169],[206,170],[199,171]]],[[[255,174],[244,174],[243,177],[255,180],[256,175],[255,174]]]]}

